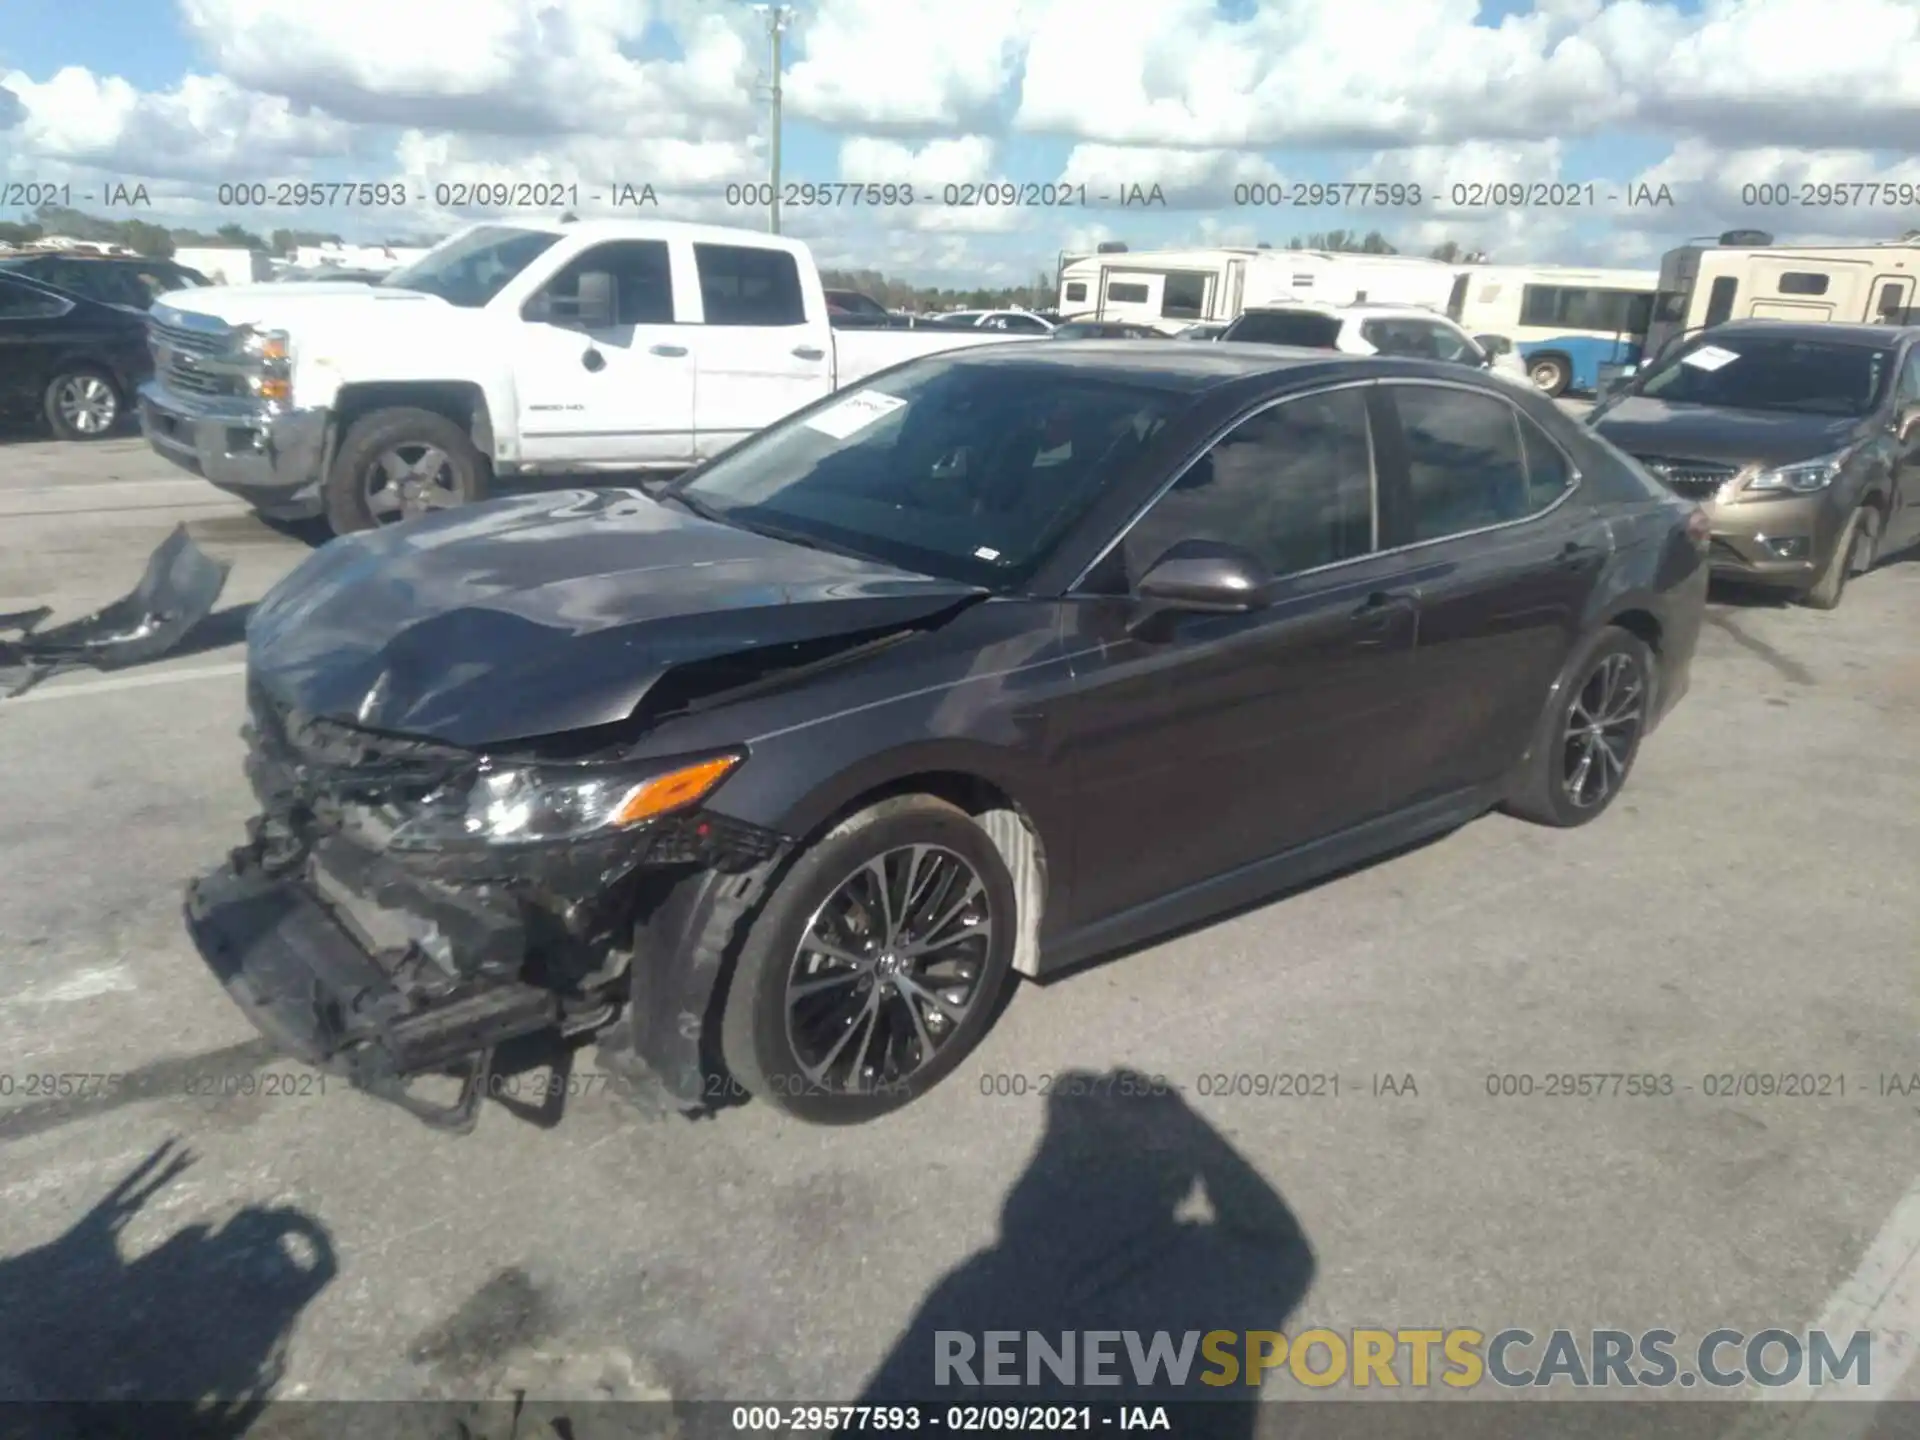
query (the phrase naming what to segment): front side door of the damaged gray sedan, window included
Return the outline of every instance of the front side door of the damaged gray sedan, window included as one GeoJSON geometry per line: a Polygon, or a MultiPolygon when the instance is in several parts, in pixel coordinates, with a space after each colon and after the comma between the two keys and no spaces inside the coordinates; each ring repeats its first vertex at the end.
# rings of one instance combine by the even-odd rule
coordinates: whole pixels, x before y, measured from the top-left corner
{"type": "Polygon", "coordinates": [[[1386,806],[1415,611],[1377,551],[1369,394],[1348,384],[1238,420],[1069,595],[1068,924],[1206,889],[1386,806]],[[1273,574],[1265,603],[1142,630],[1131,591],[1187,540],[1252,553],[1273,574]]]}

